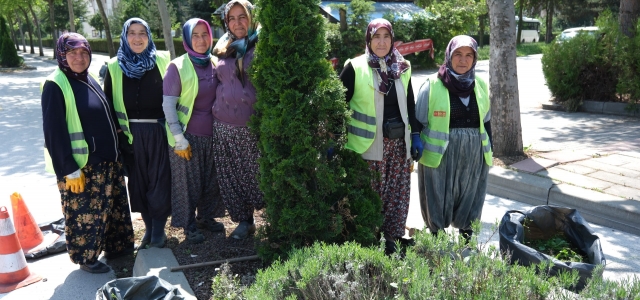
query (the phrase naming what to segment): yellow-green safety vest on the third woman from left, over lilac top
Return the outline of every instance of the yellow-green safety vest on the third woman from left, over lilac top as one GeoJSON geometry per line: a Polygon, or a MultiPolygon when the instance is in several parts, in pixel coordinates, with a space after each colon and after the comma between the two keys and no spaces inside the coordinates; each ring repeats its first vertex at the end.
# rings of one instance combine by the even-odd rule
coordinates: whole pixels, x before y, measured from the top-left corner
{"type": "MultiPolygon", "coordinates": [[[[196,96],[198,95],[198,75],[196,74],[196,70],[193,68],[193,63],[189,56],[185,53],[173,61],[171,61],[178,68],[178,74],[180,74],[180,84],[182,86],[182,91],[180,92],[180,98],[178,99],[178,104],[176,104],[176,112],[178,113],[178,122],[180,122],[180,127],[182,127],[182,132],[184,133],[187,130],[187,124],[189,123],[189,119],[191,119],[191,113],[193,112],[193,103],[196,100],[196,96]]],[[[211,64],[215,68],[215,60],[211,59],[211,64]]],[[[169,123],[166,123],[167,129],[167,140],[171,147],[175,146],[176,141],[173,138],[173,134],[171,133],[171,129],[169,129],[169,123]]]]}

